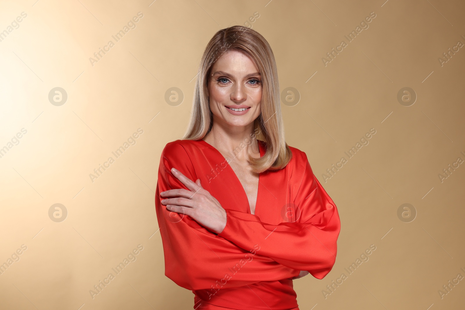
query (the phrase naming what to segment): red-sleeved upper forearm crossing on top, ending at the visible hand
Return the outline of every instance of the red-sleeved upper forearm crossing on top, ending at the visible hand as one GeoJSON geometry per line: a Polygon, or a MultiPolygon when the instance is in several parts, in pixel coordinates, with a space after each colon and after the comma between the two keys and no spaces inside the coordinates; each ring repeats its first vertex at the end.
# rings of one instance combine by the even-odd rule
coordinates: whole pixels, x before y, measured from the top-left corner
{"type": "Polygon", "coordinates": [[[241,248],[260,245],[260,253],[296,270],[324,277],[335,262],[339,235],[339,214],[328,208],[306,223],[265,224],[258,217],[226,210],[227,222],[220,237],[241,248]]]}

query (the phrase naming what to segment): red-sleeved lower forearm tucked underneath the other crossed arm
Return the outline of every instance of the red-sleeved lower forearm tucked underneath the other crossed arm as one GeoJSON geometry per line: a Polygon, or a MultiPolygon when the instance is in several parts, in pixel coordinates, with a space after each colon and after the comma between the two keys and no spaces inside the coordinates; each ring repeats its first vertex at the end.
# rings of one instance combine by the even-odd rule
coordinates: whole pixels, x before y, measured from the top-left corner
{"type": "Polygon", "coordinates": [[[239,287],[259,281],[295,277],[299,270],[261,254],[259,244],[247,250],[218,237],[184,216],[179,222],[156,201],[157,218],[165,253],[165,275],[188,290],[239,287]],[[225,279],[225,280],[223,280],[225,279]]]}

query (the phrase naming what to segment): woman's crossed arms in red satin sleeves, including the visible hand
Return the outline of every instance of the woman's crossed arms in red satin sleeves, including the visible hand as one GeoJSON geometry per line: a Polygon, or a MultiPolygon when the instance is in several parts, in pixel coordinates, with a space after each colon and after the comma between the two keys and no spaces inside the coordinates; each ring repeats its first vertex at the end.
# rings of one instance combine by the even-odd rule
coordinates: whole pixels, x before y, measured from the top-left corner
{"type": "Polygon", "coordinates": [[[224,209],[196,179],[184,148],[178,145],[175,151],[174,160],[162,154],[155,201],[166,276],[175,283],[209,289],[229,276],[226,287],[235,287],[308,272],[321,279],[332,269],[339,215],[308,160],[294,199],[306,216],[273,225],[253,214],[224,209]],[[179,170],[172,170],[172,160],[179,170]]]}

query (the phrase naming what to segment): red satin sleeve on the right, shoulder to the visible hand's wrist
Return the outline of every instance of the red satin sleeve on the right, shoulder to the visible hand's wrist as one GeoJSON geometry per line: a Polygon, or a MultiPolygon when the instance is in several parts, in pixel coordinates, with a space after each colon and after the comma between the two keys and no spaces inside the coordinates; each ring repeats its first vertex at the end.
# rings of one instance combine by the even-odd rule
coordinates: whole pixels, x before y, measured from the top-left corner
{"type": "Polygon", "coordinates": [[[266,224],[249,213],[226,209],[225,229],[218,234],[241,248],[259,244],[260,254],[322,279],[334,265],[340,231],[336,205],[314,176],[306,154],[295,154],[304,170],[293,198],[294,222],[266,224]],[[304,168],[305,167],[305,168],[304,168]]]}

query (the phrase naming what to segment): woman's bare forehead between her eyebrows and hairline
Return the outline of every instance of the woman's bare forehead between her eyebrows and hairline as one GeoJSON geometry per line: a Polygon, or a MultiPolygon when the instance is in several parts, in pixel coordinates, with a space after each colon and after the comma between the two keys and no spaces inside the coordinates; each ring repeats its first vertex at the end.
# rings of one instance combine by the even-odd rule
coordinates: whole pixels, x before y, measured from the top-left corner
{"type": "Polygon", "coordinates": [[[229,50],[223,53],[213,64],[212,74],[216,71],[225,71],[231,74],[248,74],[259,72],[255,61],[246,53],[237,50],[229,50]]]}

